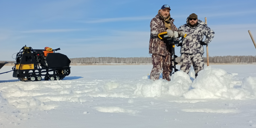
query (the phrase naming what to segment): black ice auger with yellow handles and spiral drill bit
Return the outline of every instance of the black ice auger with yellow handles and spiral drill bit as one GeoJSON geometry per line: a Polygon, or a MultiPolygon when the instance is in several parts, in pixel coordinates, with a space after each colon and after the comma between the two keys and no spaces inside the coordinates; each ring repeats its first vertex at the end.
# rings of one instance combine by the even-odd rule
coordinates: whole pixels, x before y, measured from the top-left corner
{"type": "MultiPolygon", "coordinates": [[[[175,55],[175,44],[180,44],[180,41],[183,40],[183,38],[186,38],[186,34],[180,40],[178,39],[175,40],[175,38],[168,37],[167,32],[159,33],[158,37],[167,44],[166,46],[172,46],[172,54],[173,54],[172,61],[174,62],[172,68],[174,68],[174,73],[177,72],[178,70],[176,69],[176,64],[178,63],[175,61],[175,58],[177,58],[178,56],[175,55]]],[[[170,75],[172,74],[170,73],[170,75]]]]}

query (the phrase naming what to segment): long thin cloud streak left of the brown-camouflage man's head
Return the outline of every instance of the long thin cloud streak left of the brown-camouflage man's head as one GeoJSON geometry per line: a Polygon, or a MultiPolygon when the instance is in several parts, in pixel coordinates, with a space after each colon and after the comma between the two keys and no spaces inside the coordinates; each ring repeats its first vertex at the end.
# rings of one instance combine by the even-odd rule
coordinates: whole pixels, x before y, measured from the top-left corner
{"type": "Polygon", "coordinates": [[[118,17],[118,18],[104,18],[95,20],[80,20],[80,23],[105,23],[105,22],[118,22],[118,21],[138,21],[138,20],[151,20],[152,16],[141,17],[118,17]]]}

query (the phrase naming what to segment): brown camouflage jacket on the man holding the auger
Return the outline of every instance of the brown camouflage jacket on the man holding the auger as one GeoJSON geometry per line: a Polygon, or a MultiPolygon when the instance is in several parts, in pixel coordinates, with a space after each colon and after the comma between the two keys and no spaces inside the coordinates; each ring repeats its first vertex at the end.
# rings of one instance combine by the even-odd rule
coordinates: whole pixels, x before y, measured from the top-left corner
{"type": "MultiPolygon", "coordinates": [[[[170,18],[172,31],[178,31],[177,27],[173,24],[174,19],[170,18]]],[[[166,32],[166,26],[163,18],[158,13],[150,22],[150,40],[149,40],[149,54],[166,55],[166,44],[158,37],[159,33],[166,32]]],[[[171,52],[172,53],[172,52],[171,52]]]]}

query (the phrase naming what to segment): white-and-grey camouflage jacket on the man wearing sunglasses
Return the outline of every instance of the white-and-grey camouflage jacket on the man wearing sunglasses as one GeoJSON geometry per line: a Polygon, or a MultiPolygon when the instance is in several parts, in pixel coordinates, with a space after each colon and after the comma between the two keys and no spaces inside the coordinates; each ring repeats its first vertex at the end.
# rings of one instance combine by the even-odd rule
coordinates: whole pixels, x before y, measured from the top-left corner
{"type": "Polygon", "coordinates": [[[208,45],[214,37],[213,30],[210,29],[202,20],[198,20],[198,25],[193,28],[189,26],[189,17],[186,20],[186,24],[180,26],[178,29],[183,30],[183,32],[187,34],[186,38],[182,40],[180,54],[204,54],[204,47],[200,44],[200,41],[203,41],[205,35],[206,39],[204,40],[204,43],[208,45]]]}

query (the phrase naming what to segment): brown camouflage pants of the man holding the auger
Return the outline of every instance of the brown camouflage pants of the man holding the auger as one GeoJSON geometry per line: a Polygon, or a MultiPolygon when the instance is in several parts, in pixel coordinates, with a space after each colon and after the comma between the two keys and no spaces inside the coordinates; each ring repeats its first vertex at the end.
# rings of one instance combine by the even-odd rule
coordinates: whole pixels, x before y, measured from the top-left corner
{"type": "Polygon", "coordinates": [[[168,81],[171,80],[170,73],[172,73],[172,55],[170,52],[167,53],[167,55],[158,55],[158,54],[152,54],[152,64],[153,68],[150,73],[150,79],[157,80],[159,79],[160,73],[162,72],[163,68],[163,79],[166,79],[168,81]]]}

